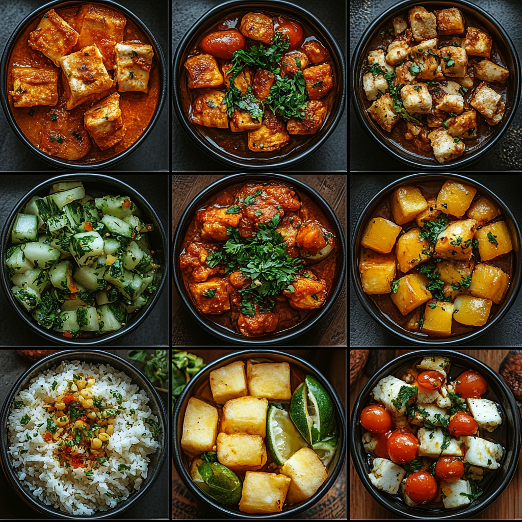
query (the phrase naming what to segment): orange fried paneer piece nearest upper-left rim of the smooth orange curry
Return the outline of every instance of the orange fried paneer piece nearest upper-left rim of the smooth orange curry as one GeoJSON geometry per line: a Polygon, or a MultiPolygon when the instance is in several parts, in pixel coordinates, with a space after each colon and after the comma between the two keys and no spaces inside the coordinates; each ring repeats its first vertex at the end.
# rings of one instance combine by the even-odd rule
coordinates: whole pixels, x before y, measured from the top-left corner
{"type": "Polygon", "coordinates": [[[60,67],[60,58],[69,54],[78,41],[78,33],[54,9],[45,13],[38,27],[29,34],[28,45],[40,51],[54,65],[60,67]]]}

